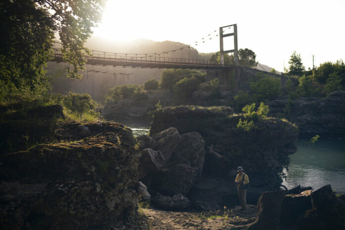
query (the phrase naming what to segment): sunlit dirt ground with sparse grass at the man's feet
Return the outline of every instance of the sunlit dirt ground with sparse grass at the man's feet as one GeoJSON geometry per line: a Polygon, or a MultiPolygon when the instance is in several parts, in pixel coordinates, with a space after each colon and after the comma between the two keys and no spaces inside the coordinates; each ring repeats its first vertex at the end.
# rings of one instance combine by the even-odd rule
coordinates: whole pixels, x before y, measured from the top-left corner
{"type": "Polygon", "coordinates": [[[256,206],[248,205],[246,213],[240,207],[218,212],[172,212],[142,209],[150,230],[241,230],[256,220],[256,206]]]}

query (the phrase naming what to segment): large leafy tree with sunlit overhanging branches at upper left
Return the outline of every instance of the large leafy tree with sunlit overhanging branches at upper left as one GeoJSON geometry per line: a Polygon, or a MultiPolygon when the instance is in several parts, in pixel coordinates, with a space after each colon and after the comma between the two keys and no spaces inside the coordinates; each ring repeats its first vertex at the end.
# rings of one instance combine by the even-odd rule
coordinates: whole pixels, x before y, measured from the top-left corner
{"type": "Polygon", "coordinates": [[[63,59],[73,67],[68,76],[81,77],[84,42],[101,19],[104,0],[3,0],[0,2],[1,83],[10,91],[33,90],[44,80],[43,66],[52,58],[55,33],[63,59]]]}

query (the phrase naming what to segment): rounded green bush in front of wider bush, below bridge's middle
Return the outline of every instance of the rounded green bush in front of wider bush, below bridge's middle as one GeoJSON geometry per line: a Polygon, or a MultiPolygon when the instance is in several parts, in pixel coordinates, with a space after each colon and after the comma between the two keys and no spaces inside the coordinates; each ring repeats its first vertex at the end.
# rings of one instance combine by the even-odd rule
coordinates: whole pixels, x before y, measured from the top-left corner
{"type": "Polygon", "coordinates": [[[190,97],[197,89],[199,80],[193,76],[191,78],[183,78],[173,85],[173,91],[177,98],[190,97]]]}

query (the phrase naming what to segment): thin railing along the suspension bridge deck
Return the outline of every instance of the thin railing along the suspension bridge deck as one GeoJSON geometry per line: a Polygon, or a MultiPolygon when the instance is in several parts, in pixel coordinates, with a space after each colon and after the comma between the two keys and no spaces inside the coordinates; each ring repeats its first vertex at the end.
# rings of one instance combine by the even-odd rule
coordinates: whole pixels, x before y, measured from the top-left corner
{"type": "MultiPolygon", "coordinates": [[[[55,57],[62,58],[61,50],[54,48],[55,57]]],[[[141,62],[141,63],[166,63],[166,64],[196,64],[196,65],[220,65],[215,61],[204,59],[189,59],[189,58],[171,58],[160,56],[129,56],[123,54],[113,54],[108,52],[91,51],[91,55],[85,54],[87,59],[99,59],[99,60],[114,60],[114,61],[126,61],[126,62],[141,62]]]]}

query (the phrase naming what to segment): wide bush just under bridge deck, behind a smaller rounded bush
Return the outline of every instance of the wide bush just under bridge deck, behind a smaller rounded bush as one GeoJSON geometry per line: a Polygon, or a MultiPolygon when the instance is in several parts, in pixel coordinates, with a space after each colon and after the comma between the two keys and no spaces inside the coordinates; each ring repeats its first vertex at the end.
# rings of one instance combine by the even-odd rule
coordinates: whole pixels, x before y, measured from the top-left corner
{"type": "Polygon", "coordinates": [[[195,77],[199,82],[206,80],[206,73],[190,69],[167,69],[164,70],[161,76],[160,87],[163,89],[173,89],[173,86],[183,78],[195,77]]]}

